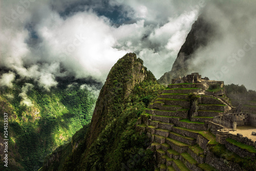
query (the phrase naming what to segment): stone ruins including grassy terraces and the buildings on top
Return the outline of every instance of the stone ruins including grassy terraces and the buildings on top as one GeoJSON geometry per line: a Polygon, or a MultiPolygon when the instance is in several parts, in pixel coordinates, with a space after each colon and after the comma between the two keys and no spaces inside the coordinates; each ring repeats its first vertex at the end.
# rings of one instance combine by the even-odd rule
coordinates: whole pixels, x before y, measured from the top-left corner
{"type": "MultiPolygon", "coordinates": [[[[226,165],[220,160],[218,162],[222,162],[223,167],[218,167],[210,160],[209,148],[216,141],[227,144],[228,148],[239,148],[228,144],[226,139],[232,137],[228,132],[220,131],[224,130],[222,124],[247,124],[251,117],[246,113],[226,115],[232,107],[222,101],[220,96],[223,94],[205,93],[210,85],[223,87],[224,82],[202,79],[199,73],[192,73],[173,79],[172,83],[148,106],[136,125],[137,131],[145,132],[152,139],[150,148],[155,152],[156,170],[233,170],[234,166],[242,170],[234,163],[234,166],[226,165]]],[[[238,151],[253,156],[244,150],[238,151]]],[[[212,159],[217,160],[216,157],[212,159]]]]}

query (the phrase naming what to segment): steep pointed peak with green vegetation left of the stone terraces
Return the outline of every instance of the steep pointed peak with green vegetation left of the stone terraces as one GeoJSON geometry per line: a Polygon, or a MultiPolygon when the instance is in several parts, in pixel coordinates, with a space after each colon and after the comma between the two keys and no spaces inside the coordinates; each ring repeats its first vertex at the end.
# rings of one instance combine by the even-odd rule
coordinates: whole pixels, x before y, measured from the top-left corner
{"type": "Polygon", "coordinates": [[[136,54],[123,56],[100,91],[90,126],[56,149],[41,170],[154,169],[148,137],[136,132],[135,123],[163,88],[136,54]]]}

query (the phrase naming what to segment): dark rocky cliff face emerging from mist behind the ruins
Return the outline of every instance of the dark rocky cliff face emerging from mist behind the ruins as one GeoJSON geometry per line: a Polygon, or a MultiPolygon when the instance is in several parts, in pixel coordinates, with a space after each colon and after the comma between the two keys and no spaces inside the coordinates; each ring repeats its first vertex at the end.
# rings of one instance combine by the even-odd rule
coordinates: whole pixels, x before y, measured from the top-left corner
{"type": "Polygon", "coordinates": [[[172,78],[183,77],[183,75],[191,72],[188,70],[188,61],[193,58],[193,53],[200,47],[206,46],[212,35],[214,35],[213,26],[204,20],[203,16],[204,13],[202,13],[198,17],[198,20],[192,25],[185,43],[181,46],[172,70],[165,72],[158,80],[159,83],[170,84],[172,78]]]}

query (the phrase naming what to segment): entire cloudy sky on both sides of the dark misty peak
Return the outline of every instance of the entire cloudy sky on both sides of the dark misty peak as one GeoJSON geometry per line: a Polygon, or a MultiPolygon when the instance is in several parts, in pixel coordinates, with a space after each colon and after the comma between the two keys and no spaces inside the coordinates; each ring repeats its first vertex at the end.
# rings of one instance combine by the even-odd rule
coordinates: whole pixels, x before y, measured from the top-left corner
{"type": "MultiPolygon", "coordinates": [[[[194,54],[191,70],[225,83],[245,84],[247,76],[241,74],[240,81],[233,79],[238,66],[245,67],[242,73],[246,75],[253,73],[253,61],[230,57],[229,72],[218,71],[223,69],[219,67],[226,56],[238,53],[245,39],[253,39],[255,13],[249,3],[241,6],[228,2],[222,6],[203,0],[1,0],[1,86],[12,87],[17,75],[34,79],[48,91],[58,84],[56,78],[93,78],[103,83],[111,67],[129,52],[135,52],[159,79],[172,69],[191,25],[204,8],[208,8],[205,18],[216,25],[218,36],[194,54]],[[249,31],[243,30],[244,25],[249,31]],[[208,64],[206,56],[217,62],[208,64]]],[[[254,52],[251,47],[244,56],[251,59],[254,52]]],[[[254,82],[245,85],[256,89],[254,82]]]]}

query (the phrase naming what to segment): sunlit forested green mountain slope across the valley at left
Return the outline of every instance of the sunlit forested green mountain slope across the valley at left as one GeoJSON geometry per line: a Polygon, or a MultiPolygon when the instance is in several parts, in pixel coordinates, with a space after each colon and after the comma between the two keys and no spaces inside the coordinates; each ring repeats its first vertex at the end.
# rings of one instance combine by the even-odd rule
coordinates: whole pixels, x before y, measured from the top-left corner
{"type": "MultiPolygon", "coordinates": [[[[4,128],[4,113],[8,113],[9,163],[8,168],[1,164],[0,170],[38,170],[47,155],[87,127],[96,96],[84,83],[59,81],[48,92],[32,80],[17,78],[12,88],[1,89],[0,125],[4,128]]],[[[2,130],[1,143],[7,139],[2,130]]]]}

